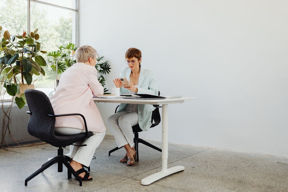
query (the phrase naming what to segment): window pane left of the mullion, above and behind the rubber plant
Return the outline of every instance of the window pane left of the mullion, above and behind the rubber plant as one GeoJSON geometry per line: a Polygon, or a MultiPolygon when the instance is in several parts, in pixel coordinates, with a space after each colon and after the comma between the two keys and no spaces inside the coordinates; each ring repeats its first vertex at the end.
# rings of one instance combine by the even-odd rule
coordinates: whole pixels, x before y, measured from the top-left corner
{"type": "MultiPolygon", "coordinates": [[[[10,35],[23,34],[27,31],[27,1],[25,0],[0,0],[0,26],[3,31],[9,31],[10,35]]],[[[3,56],[3,52],[0,57],[3,56]]],[[[0,80],[2,76],[0,74],[0,80]]],[[[11,99],[11,96],[5,92],[3,85],[0,85],[1,99],[11,99]]]]}

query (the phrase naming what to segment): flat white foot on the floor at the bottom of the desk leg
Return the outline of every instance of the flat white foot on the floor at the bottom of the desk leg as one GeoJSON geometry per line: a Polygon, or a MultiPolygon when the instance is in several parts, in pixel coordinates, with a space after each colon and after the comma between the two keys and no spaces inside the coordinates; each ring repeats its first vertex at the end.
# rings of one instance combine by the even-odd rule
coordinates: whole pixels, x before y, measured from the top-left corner
{"type": "Polygon", "coordinates": [[[150,176],[142,179],[141,184],[142,185],[149,185],[149,184],[153,183],[154,181],[157,181],[163,177],[166,177],[168,175],[171,175],[173,173],[183,171],[183,170],[184,170],[184,166],[175,166],[175,167],[171,167],[171,168],[165,169],[165,170],[162,169],[160,172],[154,173],[153,175],[150,175],[150,176]]]}

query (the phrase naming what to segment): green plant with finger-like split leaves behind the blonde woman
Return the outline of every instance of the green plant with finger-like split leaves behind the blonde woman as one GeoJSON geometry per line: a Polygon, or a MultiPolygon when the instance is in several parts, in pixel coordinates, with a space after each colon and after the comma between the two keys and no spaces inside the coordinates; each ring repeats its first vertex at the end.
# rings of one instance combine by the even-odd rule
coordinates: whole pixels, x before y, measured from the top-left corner
{"type": "MultiPolygon", "coordinates": [[[[51,56],[52,59],[48,59],[49,63],[52,63],[51,68],[53,69],[53,71],[56,70],[56,62],[55,59],[58,58],[63,58],[58,60],[58,74],[63,73],[67,68],[69,68],[71,65],[73,65],[74,63],[76,63],[76,60],[74,59],[74,57],[70,57],[70,58],[65,58],[68,56],[73,56],[75,51],[77,50],[78,47],[76,47],[76,45],[74,43],[67,43],[66,45],[57,45],[58,50],[53,51],[53,52],[49,52],[48,56],[51,56]]],[[[101,61],[104,59],[104,56],[102,57],[98,57],[97,63],[96,63],[96,70],[98,71],[98,81],[102,84],[102,86],[105,86],[105,78],[104,78],[104,74],[106,75],[109,74],[110,71],[110,64],[108,63],[109,61],[101,61]]],[[[104,94],[111,94],[108,92],[109,90],[107,88],[104,88],[104,94]]]]}

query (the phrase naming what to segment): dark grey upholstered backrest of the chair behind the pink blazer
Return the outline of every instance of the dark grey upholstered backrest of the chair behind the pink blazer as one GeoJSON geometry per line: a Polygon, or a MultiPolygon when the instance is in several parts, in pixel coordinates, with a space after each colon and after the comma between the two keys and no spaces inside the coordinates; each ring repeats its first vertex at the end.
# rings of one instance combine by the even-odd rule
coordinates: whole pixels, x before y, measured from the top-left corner
{"type": "Polygon", "coordinates": [[[46,142],[55,142],[55,117],[48,116],[54,115],[49,98],[45,93],[32,89],[25,90],[24,94],[31,112],[27,125],[29,134],[46,142]]]}

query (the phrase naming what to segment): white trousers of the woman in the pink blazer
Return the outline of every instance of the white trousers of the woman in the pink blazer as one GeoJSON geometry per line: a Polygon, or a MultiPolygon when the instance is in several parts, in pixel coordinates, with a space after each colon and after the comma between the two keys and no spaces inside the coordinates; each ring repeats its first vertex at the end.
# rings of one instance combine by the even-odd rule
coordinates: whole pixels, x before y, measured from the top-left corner
{"type": "MultiPolygon", "coordinates": [[[[60,135],[74,135],[79,133],[84,133],[85,130],[71,128],[71,127],[55,127],[55,133],[60,135]]],[[[96,148],[102,142],[106,131],[102,133],[92,132],[93,136],[85,139],[84,141],[75,142],[74,145],[87,145],[83,147],[73,146],[73,151],[71,154],[71,158],[73,161],[76,161],[82,165],[89,167],[92,157],[95,153],[96,148]]]]}

